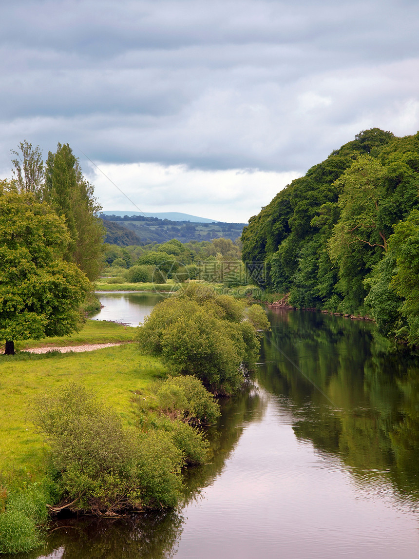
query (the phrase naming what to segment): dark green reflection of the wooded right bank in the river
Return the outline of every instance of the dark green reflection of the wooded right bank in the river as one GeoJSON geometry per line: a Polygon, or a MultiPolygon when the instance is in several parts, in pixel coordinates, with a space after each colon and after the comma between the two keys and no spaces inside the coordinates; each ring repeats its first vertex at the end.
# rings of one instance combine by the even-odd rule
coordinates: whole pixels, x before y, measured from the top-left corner
{"type": "Polygon", "coordinates": [[[258,379],[281,395],[297,437],[339,454],[358,479],[377,479],[380,472],[402,495],[418,499],[418,356],[395,347],[371,323],[296,311],[285,311],[283,320],[283,312],[269,316],[274,328],[261,361],[274,363],[260,368],[258,379]]]}

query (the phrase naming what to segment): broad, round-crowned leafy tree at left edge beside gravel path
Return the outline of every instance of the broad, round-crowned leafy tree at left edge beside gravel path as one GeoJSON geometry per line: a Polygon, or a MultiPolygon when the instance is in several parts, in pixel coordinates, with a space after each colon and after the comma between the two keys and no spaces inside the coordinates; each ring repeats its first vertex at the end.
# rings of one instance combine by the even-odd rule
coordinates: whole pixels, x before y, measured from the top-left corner
{"type": "Polygon", "coordinates": [[[80,328],[79,307],[91,290],[85,274],[64,260],[70,241],[58,217],[32,193],[0,191],[0,339],[65,335],[80,328]]]}

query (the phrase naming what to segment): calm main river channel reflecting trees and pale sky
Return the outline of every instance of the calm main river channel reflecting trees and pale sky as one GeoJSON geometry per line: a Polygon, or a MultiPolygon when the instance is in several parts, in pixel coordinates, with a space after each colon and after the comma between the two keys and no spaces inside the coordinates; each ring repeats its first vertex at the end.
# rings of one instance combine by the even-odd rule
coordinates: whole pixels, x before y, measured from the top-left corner
{"type": "Polygon", "coordinates": [[[223,402],[179,509],[62,520],[42,557],[419,557],[418,358],[367,322],[268,315],[254,383],[223,402]]]}

